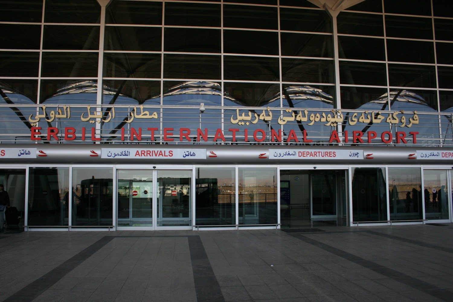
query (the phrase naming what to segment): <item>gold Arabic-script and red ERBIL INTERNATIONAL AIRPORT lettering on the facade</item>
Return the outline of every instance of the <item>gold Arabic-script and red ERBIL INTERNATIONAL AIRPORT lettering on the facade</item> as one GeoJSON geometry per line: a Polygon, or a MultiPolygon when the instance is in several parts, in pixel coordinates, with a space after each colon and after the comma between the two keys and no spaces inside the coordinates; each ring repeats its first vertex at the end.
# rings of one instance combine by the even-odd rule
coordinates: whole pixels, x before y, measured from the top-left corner
{"type": "MultiPolygon", "coordinates": [[[[42,113],[38,115],[30,115],[28,120],[31,125],[30,139],[32,141],[42,140],[43,137],[47,138],[48,141],[72,141],[76,138],[82,141],[100,141],[101,138],[97,134],[96,127],[90,124],[95,123],[109,123],[112,119],[115,119],[115,107],[110,107],[110,110],[101,112],[99,110],[92,110],[91,106],[87,106],[87,111],[80,114],[80,120],[87,122],[89,127],[82,127],[82,129],[76,129],[73,127],[64,127],[62,129],[57,127],[39,127],[39,122],[48,122],[59,120],[64,121],[74,117],[71,115],[71,106],[63,106],[53,108],[57,110],[48,110],[43,105],[40,107],[42,113]]],[[[80,108],[80,107],[78,107],[80,108]]],[[[236,114],[231,115],[230,122],[231,128],[228,129],[209,129],[215,130],[213,136],[208,136],[208,129],[189,129],[189,128],[156,128],[156,127],[130,127],[126,129],[124,127],[119,130],[119,138],[121,141],[140,142],[142,137],[148,141],[154,141],[154,137],[162,135],[164,142],[225,142],[228,137],[229,142],[275,142],[275,143],[313,143],[313,139],[310,138],[310,134],[307,130],[300,131],[301,134],[296,134],[294,129],[286,130],[282,133],[281,129],[254,129],[249,130],[246,127],[248,125],[254,125],[260,120],[271,123],[272,120],[276,120],[279,125],[285,125],[289,122],[293,122],[297,125],[324,125],[331,127],[329,143],[351,143],[351,144],[369,144],[372,142],[379,142],[385,144],[407,144],[410,141],[411,144],[417,143],[416,131],[407,131],[407,128],[411,128],[413,125],[419,124],[419,116],[417,111],[405,112],[404,110],[394,111],[389,113],[382,113],[381,111],[363,111],[355,112],[350,116],[344,117],[341,110],[331,110],[326,112],[317,112],[308,114],[308,110],[295,111],[292,109],[283,110],[284,113],[276,115],[272,113],[272,110],[268,107],[264,109],[262,113],[258,114],[255,111],[248,111],[248,113],[239,113],[239,108],[236,110],[236,114]],[[297,113],[297,114],[296,114],[297,113]],[[367,130],[362,131],[343,131],[342,135],[335,129],[337,125],[363,125],[364,127],[369,125],[388,125],[394,126],[397,129],[394,133],[390,131],[383,131],[377,133],[376,131],[367,130]],[[236,127],[235,127],[236,126],[236,127]],[[406,131],[398,131],[406,129],[406,131]]],[[[78,118],[78,116],[76,117],[78,118]]],[[[118,120],[116,120],[118,121],[118,120]]],[[[150,113],[144,110],[142,105],[134,107],[134,109],[127,116],[122,116],[121,121],[125,123],[132,123],[133,121],[154,121],[160,125],[159,114],[157,112],[150,113]]],[[[132,124],[133,125],[133,124],[132,124]]],[[[365,129],[365,128],[364,128],[365,129]]],[[[390,128],[388,128],[390,129],[390,128]]]]}

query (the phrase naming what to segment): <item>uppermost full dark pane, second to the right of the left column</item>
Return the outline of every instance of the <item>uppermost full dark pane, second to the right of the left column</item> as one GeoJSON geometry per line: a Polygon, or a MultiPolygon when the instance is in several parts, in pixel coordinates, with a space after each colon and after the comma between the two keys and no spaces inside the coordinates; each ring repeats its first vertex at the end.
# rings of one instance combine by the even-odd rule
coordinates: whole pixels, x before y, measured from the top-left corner
{"type": "MultiPolygon", "coordinates": [[[[220,27],[220,5],[165,3],[165,25],[220,27]]],[[[183,35],[182,35],[183,36],[183,35]]]]}

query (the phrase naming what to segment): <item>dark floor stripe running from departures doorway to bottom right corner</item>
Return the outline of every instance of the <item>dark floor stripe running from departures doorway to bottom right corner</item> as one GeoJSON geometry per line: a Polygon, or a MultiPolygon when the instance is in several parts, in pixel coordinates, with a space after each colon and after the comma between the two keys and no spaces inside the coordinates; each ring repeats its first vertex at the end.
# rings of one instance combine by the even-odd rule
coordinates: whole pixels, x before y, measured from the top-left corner
{"type": "Polygon", "coordinates": [[[342,257],[343,259],[352,261],[356,264],[359,264],[365,268],[369,268],[376,273],[380,273],[387,278],[391,278],[395,281],[398,281],[400,283],[404,283],[414,289],[420,290],[422,292],[425,292],[433,297],[439,298],[443,301],[452,301],[453,297],[453,292],[450,292],[446,289],[443,288],[438,288],[437,286],[421,281],[417,278],[411,277],[409,275],[406,275],[404,273],[400,273],[394,269],[387,268],[381,264],[377,264],[373,261],[363,259],[359,256],[356,256],[354,254],[348,253],[346,251],[343,251],[341,249],[337,249],[333,246],[330,246],[328,244],[319,242],[318,240],[314,240],[312,238],[308,238],[307,236],[300,235],[300,234],[289,234],[290,236],[293,236],[299,240],[302,240],[308,244],[312,244],[320,249],[323,249],[329,253],[335,254],[339,257],[342,257]]]}

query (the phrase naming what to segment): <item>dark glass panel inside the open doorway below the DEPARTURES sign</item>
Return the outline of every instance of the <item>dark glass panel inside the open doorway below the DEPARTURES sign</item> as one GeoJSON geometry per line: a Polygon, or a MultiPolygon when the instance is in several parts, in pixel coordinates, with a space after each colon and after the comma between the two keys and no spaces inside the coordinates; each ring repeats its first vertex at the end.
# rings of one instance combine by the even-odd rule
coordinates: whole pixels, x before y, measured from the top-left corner
{"type": "Polygon", "coordinates": [[[337,177],[331,173],[312,175],[312,215],[337,215],[337,177]]]}

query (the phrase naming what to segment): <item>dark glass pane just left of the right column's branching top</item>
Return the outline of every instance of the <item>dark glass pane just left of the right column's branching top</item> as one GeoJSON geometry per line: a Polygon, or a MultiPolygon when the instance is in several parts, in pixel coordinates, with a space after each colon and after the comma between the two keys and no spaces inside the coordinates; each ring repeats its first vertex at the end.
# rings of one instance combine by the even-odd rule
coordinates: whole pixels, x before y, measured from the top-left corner
{"type": "Polygon", "coordinates": [[[280,30],[332,33],[332,19],[324,10],[281,8],[280,30]]]}

